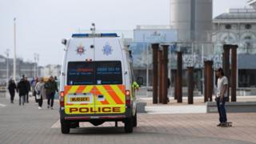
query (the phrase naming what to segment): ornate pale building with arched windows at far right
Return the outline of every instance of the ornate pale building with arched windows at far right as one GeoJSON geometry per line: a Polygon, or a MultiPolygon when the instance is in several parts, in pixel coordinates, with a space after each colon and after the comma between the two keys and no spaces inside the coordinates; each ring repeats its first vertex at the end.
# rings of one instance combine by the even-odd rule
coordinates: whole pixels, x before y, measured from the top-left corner
{"type": "Polygon", "coordinates": [[[256,87],[256,10],[230,9],[213,20],[214,53],[223,44],[238,45],[238,87],[256,87]]]}

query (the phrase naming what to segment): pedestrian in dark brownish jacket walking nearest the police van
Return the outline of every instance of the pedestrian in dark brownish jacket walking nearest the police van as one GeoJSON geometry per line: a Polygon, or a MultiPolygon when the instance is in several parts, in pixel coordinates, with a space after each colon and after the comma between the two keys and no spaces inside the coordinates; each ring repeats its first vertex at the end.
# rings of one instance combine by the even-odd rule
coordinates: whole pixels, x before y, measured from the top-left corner
{"type": "Polygon", "coordinates": [[[54,109],[54,95],[55,92],[58,92],[57,82],[55,82],[54,77],[50,76],[50,79],[45,84],[46,89],[46,97],[47,97],[47,108],[53,110],[54,109]]]}

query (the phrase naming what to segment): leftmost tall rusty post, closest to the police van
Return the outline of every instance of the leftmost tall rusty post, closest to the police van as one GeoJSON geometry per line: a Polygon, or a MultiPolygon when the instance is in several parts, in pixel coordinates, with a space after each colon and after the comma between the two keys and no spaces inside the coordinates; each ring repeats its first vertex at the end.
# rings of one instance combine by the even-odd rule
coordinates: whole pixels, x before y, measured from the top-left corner
{"type": "Polygon", "coordinates": [[[153,103],[158,103],[158,49],[159,44],[152,44],[153,49],[153,103]]]}

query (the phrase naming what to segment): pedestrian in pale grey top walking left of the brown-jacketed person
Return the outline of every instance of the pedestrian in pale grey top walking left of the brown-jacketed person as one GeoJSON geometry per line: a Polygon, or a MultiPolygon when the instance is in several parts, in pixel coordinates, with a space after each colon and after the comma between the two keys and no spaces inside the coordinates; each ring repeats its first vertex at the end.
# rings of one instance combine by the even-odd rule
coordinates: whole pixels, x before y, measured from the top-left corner
{"type": "Polygon", "coordinates": [[[42,109],[42,102],[43,102],[43,89],[44,89],[44,82],[43,78],[40,78],[39,82],[35,86],[35,92],[36,92],[36,99],[38,101],[38,109],[42,109]]]}

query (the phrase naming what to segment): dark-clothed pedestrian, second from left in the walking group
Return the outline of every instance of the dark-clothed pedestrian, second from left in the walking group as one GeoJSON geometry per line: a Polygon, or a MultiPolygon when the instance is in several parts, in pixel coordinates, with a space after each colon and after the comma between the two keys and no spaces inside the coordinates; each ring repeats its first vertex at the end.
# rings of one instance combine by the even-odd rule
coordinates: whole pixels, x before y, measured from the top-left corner
{"type": "Polygon", "coordinates": [[[24,78],[22,78],[21,81],[18,82],[17,92],[19,95],[19,106],[21,106],[21,104],[24,106],[24,102],[26,101],[25,97],[28,92],[24,78]]]}

